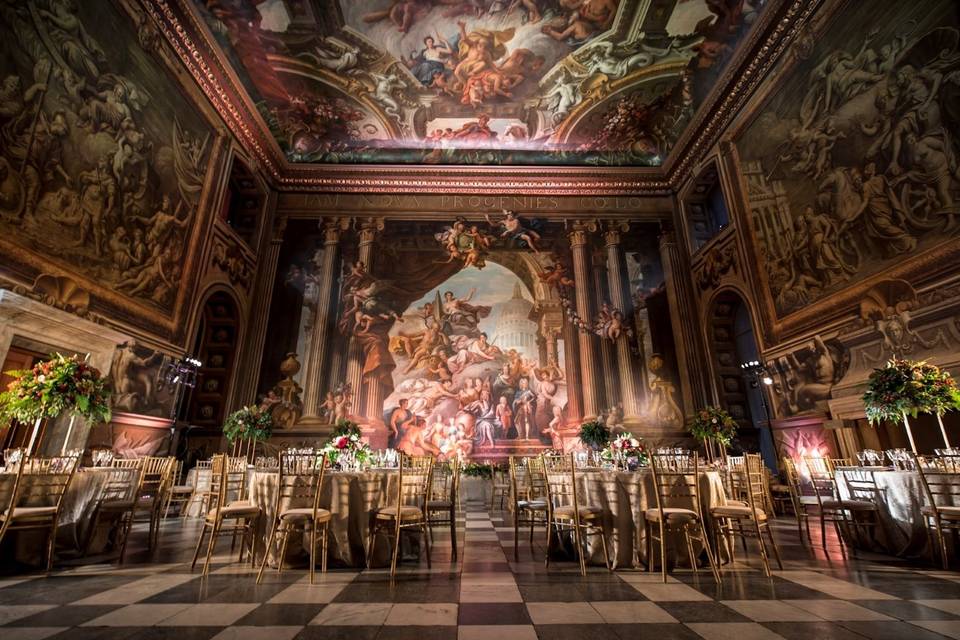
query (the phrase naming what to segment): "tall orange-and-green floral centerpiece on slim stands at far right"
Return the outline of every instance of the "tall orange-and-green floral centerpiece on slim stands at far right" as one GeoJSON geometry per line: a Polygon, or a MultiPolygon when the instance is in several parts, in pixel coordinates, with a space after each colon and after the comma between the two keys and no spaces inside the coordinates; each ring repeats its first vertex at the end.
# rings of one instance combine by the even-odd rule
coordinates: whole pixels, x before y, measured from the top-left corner
{"type": "Polygon", "coordinates": [[[894,358],[870,374],[863,404],[871,424],[903,420],[914,453],[917,447],[907,415],[916,418],[921,413],[935,414],[943,441],[949,448],[950,441],[941,416],[947,411],[960,409],[960,389],[950,374],[940,367],[894,358]]]}

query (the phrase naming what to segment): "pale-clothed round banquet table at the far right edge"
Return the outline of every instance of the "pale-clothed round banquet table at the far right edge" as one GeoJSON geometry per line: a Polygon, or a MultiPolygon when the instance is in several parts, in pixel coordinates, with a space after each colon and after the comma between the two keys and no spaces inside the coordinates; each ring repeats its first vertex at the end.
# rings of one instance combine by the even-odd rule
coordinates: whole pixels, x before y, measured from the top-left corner
{"type": "MultiPolygon", "coordinates": [[[[854,497],[870,499],[879,508],[880,526],[875,535],[861,531],[851,532],[853,546],[869,551],[879,551],[902,558],[932,557],[932,548],[924,524],[921,509],[926,504],[923,482],[916,471],[844,467],[837,470],[837,487],[844,499],[851,497],[848,482],[856,489],[854,497]],[[872,487],[865,494],[862,487],[872,487]]],[[[925,471],[933,478],[935,471],[925,471]]],[[[937,496],[938,504],[960,506],[960,495],[937,496]]]]}

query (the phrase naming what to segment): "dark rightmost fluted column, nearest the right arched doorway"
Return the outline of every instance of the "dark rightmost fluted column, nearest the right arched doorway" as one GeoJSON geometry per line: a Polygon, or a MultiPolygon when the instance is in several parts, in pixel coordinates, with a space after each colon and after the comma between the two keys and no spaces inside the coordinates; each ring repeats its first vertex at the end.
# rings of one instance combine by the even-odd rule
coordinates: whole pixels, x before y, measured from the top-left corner
{"type": "Polygon", "coordinates": [[[677,350],[677,367],[683,411],[689,415],[695,407],[710,402],[710,384],[707,367],[703,366],[703,341],[697,326],[697,306],[694,302],[690,267],[684,259],[672,229],[660,235],[660,260],[666,281],[667,303],[670,305],[670,325],[677,350]]]}

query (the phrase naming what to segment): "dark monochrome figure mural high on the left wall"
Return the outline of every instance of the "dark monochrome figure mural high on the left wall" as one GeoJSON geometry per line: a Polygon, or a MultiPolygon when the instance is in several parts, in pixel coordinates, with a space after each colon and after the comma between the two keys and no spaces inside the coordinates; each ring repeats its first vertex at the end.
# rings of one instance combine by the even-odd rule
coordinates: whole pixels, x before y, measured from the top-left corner
{"type": "Polygon", "coordinates": [[[169,311],[211,138],[156,58],[159,34],[113,2],[0,16],[0,232],[169,311]]]}

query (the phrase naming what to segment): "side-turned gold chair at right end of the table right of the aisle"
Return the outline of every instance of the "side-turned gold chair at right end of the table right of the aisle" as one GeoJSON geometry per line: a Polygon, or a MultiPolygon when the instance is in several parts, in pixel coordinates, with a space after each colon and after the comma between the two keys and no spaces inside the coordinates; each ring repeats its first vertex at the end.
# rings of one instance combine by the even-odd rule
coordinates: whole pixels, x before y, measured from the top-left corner
{"type": "Polygon", "coordinates": [[[770,519],[764,507],[764,474],[766,469],[760,454],[748,453],[745,457],[746,462],[746,482],[747,482],[747,506],[722,505],[710,509],[710,516],[714,522],[714,535],[716,536],[717,548],[719,549],[720,536],[726,536],[729,544],[728,550],[733,559],[733,538],[739,537],[744,541],[746,548],[747,538],[756,538],[760,547],[760,559],[763,562],[763,572],[770,577],[770,560],[767,557],[767,545],[763,540],[763,532],[766,531],[770,538],[770,547],[773,550],[774,558],[777,560],[777,566],[783,570],[783,561],[780,559],[780,548],[773,537],[773,529],[770,527],[770,519]]]}

